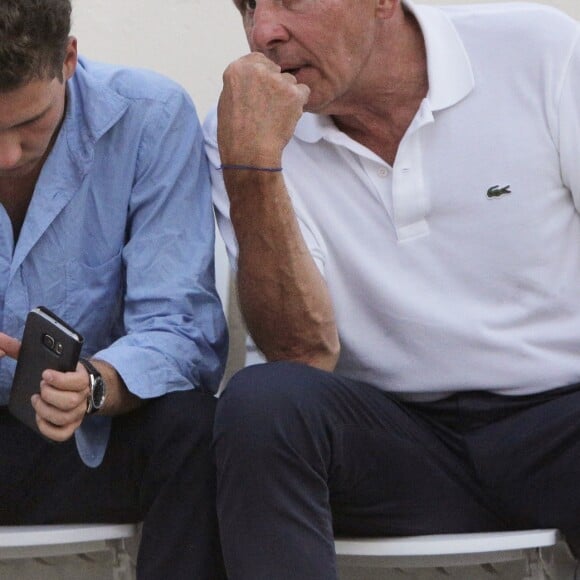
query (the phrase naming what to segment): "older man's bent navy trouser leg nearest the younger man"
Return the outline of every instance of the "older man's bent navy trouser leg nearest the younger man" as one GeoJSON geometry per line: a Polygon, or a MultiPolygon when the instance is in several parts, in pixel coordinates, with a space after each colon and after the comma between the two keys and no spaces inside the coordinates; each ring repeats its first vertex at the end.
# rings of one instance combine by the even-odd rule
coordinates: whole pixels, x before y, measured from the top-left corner
{"type": "Polygon", "coordinates": [[[218,403],[214,445],[231,580],[334,579],[335,531],[509,526],[451,434],[373,387],[303,365],[235,375],[218,403]]]}

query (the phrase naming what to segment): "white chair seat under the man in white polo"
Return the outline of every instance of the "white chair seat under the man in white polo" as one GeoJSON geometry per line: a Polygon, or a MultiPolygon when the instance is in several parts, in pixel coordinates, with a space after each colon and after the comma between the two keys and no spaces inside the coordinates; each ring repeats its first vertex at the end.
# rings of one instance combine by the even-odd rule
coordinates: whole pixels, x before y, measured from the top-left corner
{"type": "Polygon", "coordinates": [[[578,563],[553,529],[337,538],[335,549],[341,580],[574,580],[578,572],[578,563]]]}

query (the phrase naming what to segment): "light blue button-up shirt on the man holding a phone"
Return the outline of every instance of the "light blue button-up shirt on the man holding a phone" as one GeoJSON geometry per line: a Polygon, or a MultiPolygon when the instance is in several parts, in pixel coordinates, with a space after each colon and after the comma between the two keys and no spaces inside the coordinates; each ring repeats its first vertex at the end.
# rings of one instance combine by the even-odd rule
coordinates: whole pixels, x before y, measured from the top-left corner
{"type": "MultiPolygon", "coordinates": [[[[191,100],[152,72],[80,59],[16,246],[0,205],[1,330],[20,338],[28,311],[44,305],[138,397],[214,391],[227,337],[213,259],[191,100]]],[[[0,360],[0,404],[14,367],[0,360]]],[[[92,416],[77,430],[87,465],[101,462],[110,424],[92,416]]]]}

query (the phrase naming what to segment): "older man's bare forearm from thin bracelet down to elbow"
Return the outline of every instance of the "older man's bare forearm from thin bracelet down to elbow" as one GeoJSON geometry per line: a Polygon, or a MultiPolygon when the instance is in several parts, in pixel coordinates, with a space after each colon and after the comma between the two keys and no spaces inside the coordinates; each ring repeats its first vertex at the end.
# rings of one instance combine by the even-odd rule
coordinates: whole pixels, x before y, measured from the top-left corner
{"type": "Polygon", "coordinates": [[[330,295],[282,174],[224,173],[239,246],[239,300],[250,334],[268,360],[333,370],[339,342],[330,295]]]}

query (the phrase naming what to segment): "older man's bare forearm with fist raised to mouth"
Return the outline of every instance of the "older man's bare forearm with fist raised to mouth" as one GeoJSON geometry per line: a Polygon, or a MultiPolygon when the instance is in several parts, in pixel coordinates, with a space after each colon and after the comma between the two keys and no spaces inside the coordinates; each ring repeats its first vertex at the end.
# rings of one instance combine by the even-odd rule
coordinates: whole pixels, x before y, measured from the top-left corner
{"type": "Polygon", "coordinates": [[[248,329],[268,360],[325,370],[339,343],[329,292],[300,228],[280,167],[310,90],[264,55],[224,72],[217,144],[238,245],[238,291],[248,329]],[[248,146],[251,144],[251,146],[248,146]]]}

